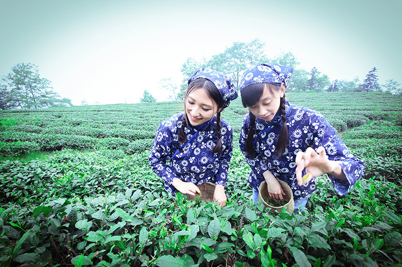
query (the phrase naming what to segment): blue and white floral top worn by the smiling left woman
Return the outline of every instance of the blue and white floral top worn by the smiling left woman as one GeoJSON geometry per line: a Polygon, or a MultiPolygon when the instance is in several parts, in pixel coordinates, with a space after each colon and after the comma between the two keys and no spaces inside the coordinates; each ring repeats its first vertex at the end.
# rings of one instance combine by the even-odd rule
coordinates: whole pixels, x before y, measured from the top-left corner
{"type": "Polygon", "coordinates": [[[229,162],[232,158],[233,131],[221,119],[222,151],[213,153],[218,142],[217,118],[200,126],[188,125],[184,129],[187,142],[178,142],[184,113],[176,114],[161,122],[149,154],[152,170],[165,182],[168,193],[175,195],[171,185],[174,178],[194,184],[213,182],[225,186],[229,162]]]}

